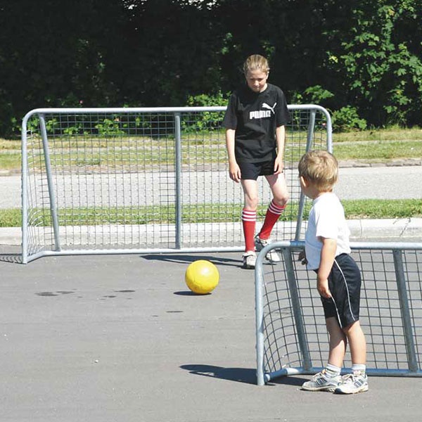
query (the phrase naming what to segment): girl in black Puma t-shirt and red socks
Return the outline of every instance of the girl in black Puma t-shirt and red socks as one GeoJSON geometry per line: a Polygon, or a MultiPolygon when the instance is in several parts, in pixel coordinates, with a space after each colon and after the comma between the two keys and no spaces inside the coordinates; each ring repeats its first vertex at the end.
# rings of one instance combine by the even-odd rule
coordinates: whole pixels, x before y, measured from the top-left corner
{"type": "MultiPolygon", "coordinates": [[[[288,201],[286,179],[283,175],[285,142],[284,125],[289,120],[283,91],[267,82],[269,65],[266,58],[255,54],[243,64],[246,85],[234,91],[224,116],[226,147],[229,155],[230,178],[241,182],[245,197],[242,226],[245,236],[243,267],[255,268],[256,250],[270,243],[271,230],[288,201]],[[262,229],[255,236],[258,206],[258,176],[264,176],[273,199],[269,204],[262,229]]],[[[279,262],[272,250],[270,262],[279,262]]]]}

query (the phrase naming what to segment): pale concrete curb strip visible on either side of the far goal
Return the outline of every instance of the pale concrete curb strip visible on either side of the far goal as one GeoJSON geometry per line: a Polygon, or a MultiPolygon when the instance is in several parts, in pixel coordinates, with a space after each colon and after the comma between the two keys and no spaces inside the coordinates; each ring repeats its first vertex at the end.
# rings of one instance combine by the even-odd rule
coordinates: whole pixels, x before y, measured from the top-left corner
{"type": "MultiPolygon", "coordinates": [[[[402,219],[357,219],[348,220],[351,240],[354,239],[422,239],[422,218],[402,219]]],[[[0,245],[20,245],[22,229],[20,227],[0,228],[0,245]]]]}

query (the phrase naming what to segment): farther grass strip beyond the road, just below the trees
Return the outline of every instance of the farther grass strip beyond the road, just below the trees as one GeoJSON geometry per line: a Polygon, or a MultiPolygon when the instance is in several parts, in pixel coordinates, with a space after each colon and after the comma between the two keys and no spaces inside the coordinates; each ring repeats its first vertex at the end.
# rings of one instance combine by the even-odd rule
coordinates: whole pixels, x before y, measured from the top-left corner
{"type": "MultiPolygon", "coordinates": [[[[189,136],[186,134],[186,136],[189,136]]],[[[367,160],[385,162],[393,159],[422,158],[422,129],[415,127],[405,129],[390,127],[388,129],[371,129],[360,132],[333,134],[333,150],[339,160],[367,160]]],[[[132,138],[119,139],[119,148],[108,155],[102,162],[101,148],[113,151],[113,139],[90,139],[89,137],[63,137],[53,139],[51,145],[60,150],[57,160],[62,160],[70,166],[91,165],[100,167],[119,167],[135,165],[139,162],[166,165],[174,160],[174,144],[171,139],[132,138]],[[136,153],[131,146],[138,146],[136,153]],[[139,148],[139,144],[146,148],[139,148]],[[110,148],[111,146],[111,148],[110,148]],[[122,149],[123,148],[123,149],[122,149]],[[79,151],[79,152],[78,152],[79,151]],[[132,152],[131,152],[132,151],[132,152]],[[80,156],[82,155],[82,159],[80,156]],[[84,160],[84,162],[81,162],[84,160]],[[89,162],[86,162],[89,160],[89,162]]],[[[185,144],[186,145],[186,144],[185,144]]],[[[203,143],[198,139],[189,139],[188,146],[182,148],[184,164],[189,158],[198,154],[196,148],[201,146],[202,162],[225,160],[224,134],[219,134],[211,142],[203,143]]],[[[39,148],[39,147],[38,147],[39,148]]],[[[288,150],[288,143],[286,149],[288,150]]],[[[288,151],[286,151],[286,154],[288,151]]],[[[52,160],[55,160],[52,155],[52,160]]],[[[52,162],[52,164],[54,164],[52,162]]],[[[20,170],[20,141],[0,139],[0,169],[20,170]]]]}

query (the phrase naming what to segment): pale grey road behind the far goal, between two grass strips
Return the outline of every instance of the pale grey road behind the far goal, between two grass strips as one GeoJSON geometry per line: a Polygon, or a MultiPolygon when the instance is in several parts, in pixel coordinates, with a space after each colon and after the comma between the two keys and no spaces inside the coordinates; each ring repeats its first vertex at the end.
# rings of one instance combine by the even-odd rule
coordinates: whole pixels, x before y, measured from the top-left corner
{"type": "MultiPolygon", "coordinates": [[[[286,175],[288,181],[297,180],[297,170],[286,170],[286,172],[289,173],[286,175]],[[290,173],[293,173],[293,175],[290,175],[290,173]]],[[[200,198],[206,195],[207,192],[204,191],[203,186],[207,186],[208,184],[218,186],[225,183],[228,186],[233,186],[233,182],[227,177],[226,172],[195,172],[192,173],[192,177],[195,177],[195,179],[200,178],[200,181],[196,180],[196,184],[201,189],[198,192],[191,192],[192,198],[200,198]]],[[[160,186],[160,173],[136,174],[135,177],[133,174],[121,174],[120,178],[116,178],[119,179],[120,188],[119,186],[117,188],[110,188],[109,185],[113,180],[110,180],[107,174],[94,174],[91,179],[83,178],[83,183],[78,182],[79,178],[77,174],[74,176],[56,177],[58,183],[58,188],[56,189],[57,194],[60,195],[61,193],[70,197],[72,195],[70,187],[73,186],[78,195],[77,203],[83,206],[89,205],[89,203],[81,203],[81,201],[87,200],[84,192],[90,192],[90,195],[87,195],[87,197],[91,196],[94,200],[93,193],[110,195],[110,192],[122,191],[122,186],[124,186],[127,193],[130,191],[130,196],[131,198],[133,197],[134,202],[139,196],[139,203],[143,203],[145,200],[143,195],[148,195],[151,196],[151,201],[158,203],[158,198],[153,198],[153,195],[159,196],[159,190],[143,192],[139,191],[139,186],[153,186],[153,184],[160,186]],[[103,193],[101,192],[101,186],[103,186],[103,193]]],[[[421,180],[422,165],[341,167],[335,192],[341,199],[422,198],[421,180]]],[[[190,182],[188,173],[184,173],[182,183],[189,186],[189,188],[195,188],[196,186],[196,184],[190,182]]],[[[233,194],[231,192],[232,190],[231,188],[226,188],[224,194],[233,194]]],[[[20,175],[0,177],[0,209],[19,208],[21,206],[20,191],[20,175]]],[[[210,198],[208,200],[215,200],[214,196],[216,193],[210,190],[209,194],[210,198]]],[[[114,200],[116,198],[108,198],[108,203],[113,205],[114,200]]],[[[169,198],[165,198],[165,200],[168,203],[169,198]]]]}

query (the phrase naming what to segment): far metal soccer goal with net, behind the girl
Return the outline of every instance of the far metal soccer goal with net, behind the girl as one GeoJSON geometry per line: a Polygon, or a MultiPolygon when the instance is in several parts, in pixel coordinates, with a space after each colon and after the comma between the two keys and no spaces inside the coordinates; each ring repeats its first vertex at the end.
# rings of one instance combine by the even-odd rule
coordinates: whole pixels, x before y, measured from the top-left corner
{"type": "MultiPolygon", "coordinates": [[[[297,162],[332,150],[320,106],[288,106],[290,205],[274,228],[300,238],[297,162]]],[[[43,255],[241,250],[241,186],[229,179],[225,107],[56,108],[22,126],[23,262],[43,255]]],[[[263,179],[263,178],[260,178],[263,179]]],[[[259,221],[270,200],[260,180],[259,221]]],[[[259,224],[257,225],[259,229],[259,224]]]]}

